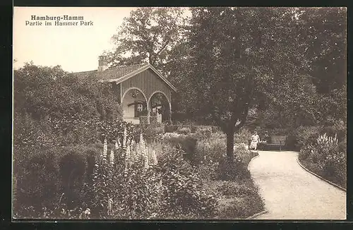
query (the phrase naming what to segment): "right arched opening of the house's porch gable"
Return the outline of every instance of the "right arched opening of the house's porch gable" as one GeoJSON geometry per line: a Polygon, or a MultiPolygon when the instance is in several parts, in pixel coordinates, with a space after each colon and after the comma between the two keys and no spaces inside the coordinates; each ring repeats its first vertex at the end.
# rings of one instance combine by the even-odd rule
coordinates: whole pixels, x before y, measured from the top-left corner
{"type": "Polygon", "coordinates": [[[170,102],[164,93],[157,91],[149,99],[150,122],[163,123],[170,121],[170,102]]]}

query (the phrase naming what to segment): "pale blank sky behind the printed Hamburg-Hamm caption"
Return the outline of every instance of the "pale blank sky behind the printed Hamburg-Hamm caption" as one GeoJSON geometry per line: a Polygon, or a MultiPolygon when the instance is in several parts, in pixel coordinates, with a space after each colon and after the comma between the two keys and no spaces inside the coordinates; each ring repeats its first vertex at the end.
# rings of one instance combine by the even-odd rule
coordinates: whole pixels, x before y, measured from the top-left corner
{"type": "MultiPolygon", "coordinates": [[[[91,71],[98,67],[98,56],[112,49],[111,37],[123,19],[136,8],[98,7],[15,7],[13,10],[14,68],[33,61],[38,66],[61,66],[64,71],[91,71]],[[92,26],[25,25],[31,16],[83,16],[92,26]]],[[[69,20],[60,20],[68,22],[69,20]]]]}

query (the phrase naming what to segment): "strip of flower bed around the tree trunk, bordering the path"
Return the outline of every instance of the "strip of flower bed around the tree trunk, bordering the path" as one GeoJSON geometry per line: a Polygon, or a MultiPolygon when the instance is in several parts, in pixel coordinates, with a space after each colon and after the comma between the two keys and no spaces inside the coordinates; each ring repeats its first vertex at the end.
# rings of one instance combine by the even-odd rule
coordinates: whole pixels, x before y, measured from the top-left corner
{"type": "Polygon", "coordinates": [[[263,211],[263,200],[247,169],[257,153],[239,143],[234,147],[235,160],[229,164],[225,152],[225,135],[213,133],[198,139],[194,162],[206,187],[217,194],[217,218],[243,219],[263,211]]]}

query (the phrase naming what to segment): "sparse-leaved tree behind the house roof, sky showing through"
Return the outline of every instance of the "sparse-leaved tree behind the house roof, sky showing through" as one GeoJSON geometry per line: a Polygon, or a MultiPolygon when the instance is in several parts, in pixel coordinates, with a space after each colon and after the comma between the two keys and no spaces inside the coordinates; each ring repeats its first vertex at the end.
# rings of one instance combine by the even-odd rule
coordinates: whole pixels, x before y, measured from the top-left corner
{"type": "Polygon", "coordinates": [[[131,11],[113,36],[116,48],[107,52],[111,66],[151,63],[164,71],[184,36],[184,11],[181,8],[142,7],[131,11]]]}

